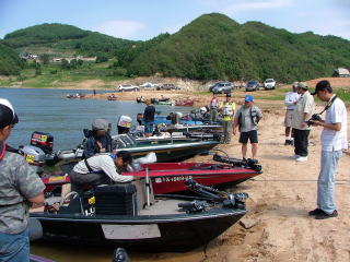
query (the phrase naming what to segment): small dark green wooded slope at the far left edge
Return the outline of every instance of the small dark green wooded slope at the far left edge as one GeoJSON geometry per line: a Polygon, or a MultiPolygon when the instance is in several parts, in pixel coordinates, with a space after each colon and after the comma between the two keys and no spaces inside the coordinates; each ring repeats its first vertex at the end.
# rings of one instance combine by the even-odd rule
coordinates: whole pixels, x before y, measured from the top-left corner
{"type": "Polygon", "coordinates": [[[20,74],[24,62],[10,47],[0,43],[0,75],[20,74]]]}

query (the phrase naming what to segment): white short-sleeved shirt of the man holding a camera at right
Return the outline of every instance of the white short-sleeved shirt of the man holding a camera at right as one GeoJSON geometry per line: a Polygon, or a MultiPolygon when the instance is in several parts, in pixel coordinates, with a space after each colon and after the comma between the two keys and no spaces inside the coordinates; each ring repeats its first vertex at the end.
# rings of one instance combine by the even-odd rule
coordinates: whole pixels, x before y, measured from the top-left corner
{"type": "Polygon", "coordinates": [[[326,110],[326,123],[341,123],[340,131],[324,129],[320,134],[323,151],[339,151],[348,148],[347,108],[340,98],[336,98],[326,110]]]}

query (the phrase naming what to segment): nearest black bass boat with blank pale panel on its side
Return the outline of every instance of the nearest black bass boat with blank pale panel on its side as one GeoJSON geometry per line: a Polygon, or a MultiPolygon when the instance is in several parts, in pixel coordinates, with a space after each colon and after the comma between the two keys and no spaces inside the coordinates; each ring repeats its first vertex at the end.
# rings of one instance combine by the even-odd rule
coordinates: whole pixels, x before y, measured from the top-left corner
{"type": "Polygon", "coordinates": [[[217,238],[247,212],[246,193],[229,194],[188,180],[196,196],[153,199],[148,191],[145,201],[141,183],[104,184],[79,195],[71,192],[56,206],[47,204],[44,212],[31,213],[31,219],[42,225],[45,241],[184,252],[217,238]]]}

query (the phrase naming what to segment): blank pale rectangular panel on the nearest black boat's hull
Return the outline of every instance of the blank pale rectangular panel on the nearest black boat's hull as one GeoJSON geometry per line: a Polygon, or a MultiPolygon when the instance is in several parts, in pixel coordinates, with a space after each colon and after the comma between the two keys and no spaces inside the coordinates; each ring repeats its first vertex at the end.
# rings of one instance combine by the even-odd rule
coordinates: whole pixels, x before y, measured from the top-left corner
{"type": "Polygon", "coordinates": [[[150,225],[112,225],[102,224],[102,230],[106,239],[145,239],[161,237],[156,224],[150,225]]]}

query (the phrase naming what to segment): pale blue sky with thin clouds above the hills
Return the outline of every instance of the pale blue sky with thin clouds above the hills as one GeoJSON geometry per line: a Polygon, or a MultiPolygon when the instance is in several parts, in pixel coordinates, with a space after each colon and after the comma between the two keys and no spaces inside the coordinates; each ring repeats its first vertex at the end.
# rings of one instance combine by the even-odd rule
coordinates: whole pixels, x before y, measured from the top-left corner
{"type": "Polygon", "coordinates": [[[61,23],[131,40],[174,34],[218,12],[240,24],[259,21],[292,33],[350,40],[350,0],[0,0],[0,38],[15,29],[61,23]]]}

